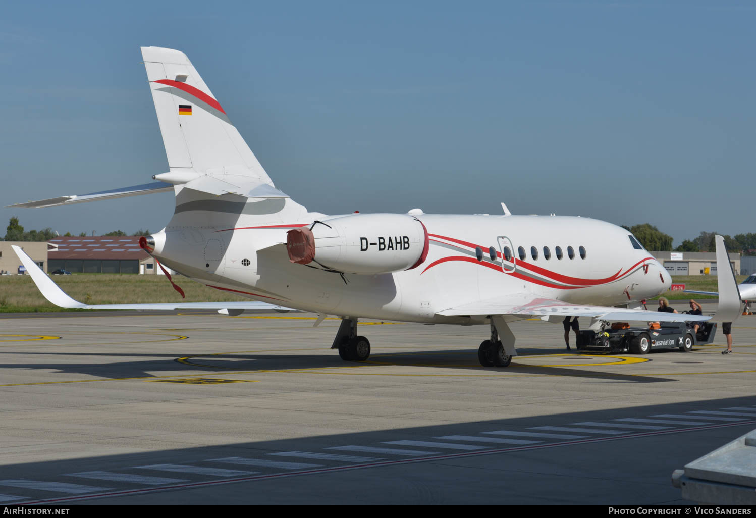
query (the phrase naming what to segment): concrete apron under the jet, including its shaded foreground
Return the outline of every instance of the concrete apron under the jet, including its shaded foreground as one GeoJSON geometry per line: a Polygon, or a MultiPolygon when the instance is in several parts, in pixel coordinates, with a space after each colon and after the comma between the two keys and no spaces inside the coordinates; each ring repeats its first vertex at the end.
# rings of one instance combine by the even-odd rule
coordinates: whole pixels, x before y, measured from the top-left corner
{"type": "Polygon", "coordinates": [[[4,315],[0,504],[679,504],[673,470],[756,428],[753,316],[732,355],[521,321],[509,368],[479,365],[485,326],[361,322],[358,364],[313,323],[4,315]]]}

